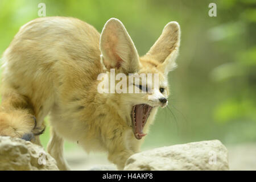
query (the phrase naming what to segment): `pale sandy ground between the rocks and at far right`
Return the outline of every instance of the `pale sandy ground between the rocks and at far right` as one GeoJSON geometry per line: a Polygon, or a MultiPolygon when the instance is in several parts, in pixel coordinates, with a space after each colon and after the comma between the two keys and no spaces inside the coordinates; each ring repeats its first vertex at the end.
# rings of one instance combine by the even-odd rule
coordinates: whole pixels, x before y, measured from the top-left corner
{"type": "MultiPolygon", "coordinates": [[[[256,143],[227,146],[230,170],[256,170],[256,143]]],[[[116,170],[103,153],[86,154],[80,148],[65,155],[72,170],[116,170]]]]}

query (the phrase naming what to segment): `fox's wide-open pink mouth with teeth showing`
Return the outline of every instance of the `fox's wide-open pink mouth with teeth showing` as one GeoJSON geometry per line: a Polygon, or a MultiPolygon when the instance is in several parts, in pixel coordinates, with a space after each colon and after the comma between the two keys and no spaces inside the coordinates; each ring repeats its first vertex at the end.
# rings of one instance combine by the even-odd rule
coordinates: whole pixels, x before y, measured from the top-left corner
{"type": "Polygon", "coordinates": [[[144,137],[143,128],[146,125],[147,118],[150,115],[152,107],[147,104],[134,105],[131,111],[131,118],[133,120],[133,133],[138,140],[144,137]]]}

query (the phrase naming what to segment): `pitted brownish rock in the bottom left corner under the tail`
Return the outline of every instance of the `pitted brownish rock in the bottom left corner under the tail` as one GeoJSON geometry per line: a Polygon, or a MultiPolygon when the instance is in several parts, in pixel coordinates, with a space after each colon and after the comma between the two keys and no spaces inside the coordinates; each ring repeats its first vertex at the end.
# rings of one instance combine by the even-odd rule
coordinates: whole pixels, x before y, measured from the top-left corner
{"type": "Polygon", "coordinates": [[[43,147],[19,138],[0,137],[0,170],[59,170],[43,147]]]}

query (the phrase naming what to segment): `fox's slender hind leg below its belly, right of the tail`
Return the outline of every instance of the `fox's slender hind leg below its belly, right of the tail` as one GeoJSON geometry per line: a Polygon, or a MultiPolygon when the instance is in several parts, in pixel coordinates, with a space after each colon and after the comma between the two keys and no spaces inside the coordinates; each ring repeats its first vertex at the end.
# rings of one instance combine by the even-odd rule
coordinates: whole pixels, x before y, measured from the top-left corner
{"type": "Polygon", "coordinates": [[[56,160],[57,167],[61,171],[67,171],[70,170],[70,168],[64,159],[63,147],[64,139],[59,137],[53,127],[51,127],[51,139],[47,145],[47,151],[56,160]]]}

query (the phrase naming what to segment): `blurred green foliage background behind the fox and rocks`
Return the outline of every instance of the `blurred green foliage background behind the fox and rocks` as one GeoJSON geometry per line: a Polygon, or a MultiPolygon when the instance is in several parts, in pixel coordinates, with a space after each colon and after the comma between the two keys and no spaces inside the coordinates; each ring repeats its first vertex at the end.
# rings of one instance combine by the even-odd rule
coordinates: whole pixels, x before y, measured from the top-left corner
{"type": "MultiPolygon", "coordinates": [[[[181,27],[179,67],[169,74],[169,106],[159,109],[143,148],[219,139],[224,144],[256,142],[256,3],[222,1],[0,1],[0,53],[19,27],[46,16],[73,16],[101,32],[120,19],[140,55],[170,21],[181,27]],[[209,3],[217,5],[210,17],[209,3]]],[[[46,146],[49,127],[42,136],[46,146]]],[[[66,143],[68,150],[76,144],[66,143]]]]}

